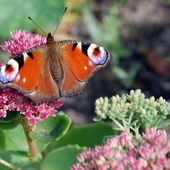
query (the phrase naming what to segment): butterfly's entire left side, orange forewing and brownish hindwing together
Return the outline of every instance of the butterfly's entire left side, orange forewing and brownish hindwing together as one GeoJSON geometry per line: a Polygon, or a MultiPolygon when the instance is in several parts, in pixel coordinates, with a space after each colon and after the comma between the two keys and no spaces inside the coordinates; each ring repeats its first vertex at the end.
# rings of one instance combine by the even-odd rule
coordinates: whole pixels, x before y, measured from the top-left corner
{"type": "Polygon", "coordinates": [[[0,85],[21,91],[36,104],[59,98],[49,67],[43,47],[20,53],[1,67],[0,85]]]}

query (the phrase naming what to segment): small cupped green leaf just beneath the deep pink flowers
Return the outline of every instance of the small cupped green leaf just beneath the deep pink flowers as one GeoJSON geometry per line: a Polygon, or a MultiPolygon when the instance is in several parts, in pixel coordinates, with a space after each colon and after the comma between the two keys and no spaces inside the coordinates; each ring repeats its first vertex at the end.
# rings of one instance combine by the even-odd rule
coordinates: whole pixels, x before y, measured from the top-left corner
{"type": "Polygon", "coordinates": [[[63,114],[57,113],[56,117],[49,117],[38,123],[34,131],[30,132],[30,137],[39,142],[52,142],[59,139],[71,125],[71,119],[63,114]]]}

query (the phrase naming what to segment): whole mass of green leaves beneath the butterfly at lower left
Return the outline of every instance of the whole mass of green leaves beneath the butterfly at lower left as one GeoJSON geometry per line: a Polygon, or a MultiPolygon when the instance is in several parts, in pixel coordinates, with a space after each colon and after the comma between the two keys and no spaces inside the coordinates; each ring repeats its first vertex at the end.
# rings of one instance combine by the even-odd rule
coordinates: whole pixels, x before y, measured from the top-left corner
{"type": "MultiPolygon", "coordinates": [[[[29,136],[34,142],[36,141],[37,151],[34,161],[30,160],[27,140],[21,125],[12,130],[1,130],[1,160],[23,170],[30,167],[40,169],[40,166],[42,169],[49,167],[48,169],[52,170],[62,167],[63,170],[67,170],[76,162],[76,155],[85,147],[101,144],[104,136],[115,134],[112,126],[108,123],[99,122],[87,126],[73,126],[68,130],[70,123],[71,120],[68,116],[57,113],[56,117],[49,117],[29,131],[29,136]],[[13,157],[12,160],[11,157],[13,157]]],[[[1,160],[1,169],[10,167],[4,162],[2,163],[1,160]]]]}

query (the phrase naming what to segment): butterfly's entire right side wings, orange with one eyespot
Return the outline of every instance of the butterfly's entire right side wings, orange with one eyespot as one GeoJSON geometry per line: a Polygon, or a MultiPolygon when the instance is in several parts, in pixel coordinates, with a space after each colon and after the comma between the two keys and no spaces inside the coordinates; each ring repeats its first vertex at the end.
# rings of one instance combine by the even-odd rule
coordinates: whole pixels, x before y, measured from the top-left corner
{"type": "Polygon", "coordinates": [[[103,47],[96,44],[61,41],[63,80],[60,82],[62,96],[79,94],[89,78],[98,69],[105,67],[111,56],[103,47]]]}

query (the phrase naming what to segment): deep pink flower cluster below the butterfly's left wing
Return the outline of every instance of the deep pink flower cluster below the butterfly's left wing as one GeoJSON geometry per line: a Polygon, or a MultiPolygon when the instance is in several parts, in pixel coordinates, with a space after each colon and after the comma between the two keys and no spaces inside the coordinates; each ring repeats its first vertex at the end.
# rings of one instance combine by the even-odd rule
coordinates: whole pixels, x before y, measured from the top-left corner
{"type": "Polygon", "coordinates": [[[0,90],[0,117],[6,117],[7,111],[17,110],[28,119],[29,125],[34,125],[49,116],[55,116],[57,108],[61,106],[60,100],[34,105],[30,99],[14,89],[0,90]]]}

